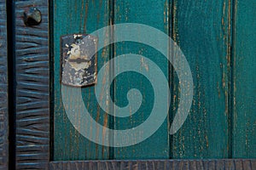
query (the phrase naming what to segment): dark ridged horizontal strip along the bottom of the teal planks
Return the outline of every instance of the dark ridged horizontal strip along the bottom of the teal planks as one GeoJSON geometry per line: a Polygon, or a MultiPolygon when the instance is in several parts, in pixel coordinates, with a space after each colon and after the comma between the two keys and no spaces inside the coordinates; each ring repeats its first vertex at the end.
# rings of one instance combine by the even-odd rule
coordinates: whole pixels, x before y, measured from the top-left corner
{"type": "Polygon", "coordinates": [[[253,170],[256,167],[255,160],[151,160],[151,161],[53,161],[49,169],[62,170],[156,170],[156,169],[211,169],[211,170],[253,170]]]}

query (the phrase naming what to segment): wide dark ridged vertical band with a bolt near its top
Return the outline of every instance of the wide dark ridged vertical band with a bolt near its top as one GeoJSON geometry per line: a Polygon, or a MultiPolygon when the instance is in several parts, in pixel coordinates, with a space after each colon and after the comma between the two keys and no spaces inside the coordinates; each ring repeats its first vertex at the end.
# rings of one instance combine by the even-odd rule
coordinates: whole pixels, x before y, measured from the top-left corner
{"type": "Polygon", "coordinates": [[[47,169],[49,162],[48,1],[15,1],[16,169],[47,169]],[[25,26],[24,10],[37,7],[42,23],[25,26]]]}

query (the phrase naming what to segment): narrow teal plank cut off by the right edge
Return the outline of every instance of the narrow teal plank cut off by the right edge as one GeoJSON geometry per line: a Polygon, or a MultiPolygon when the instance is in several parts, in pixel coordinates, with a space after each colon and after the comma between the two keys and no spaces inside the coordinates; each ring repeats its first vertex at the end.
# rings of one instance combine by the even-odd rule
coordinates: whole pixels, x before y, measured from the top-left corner
{"type": "Polygon", "coordinates": [[[256,158],[256,2],[236,0],[233,28],[232,156],[256,158]]]}

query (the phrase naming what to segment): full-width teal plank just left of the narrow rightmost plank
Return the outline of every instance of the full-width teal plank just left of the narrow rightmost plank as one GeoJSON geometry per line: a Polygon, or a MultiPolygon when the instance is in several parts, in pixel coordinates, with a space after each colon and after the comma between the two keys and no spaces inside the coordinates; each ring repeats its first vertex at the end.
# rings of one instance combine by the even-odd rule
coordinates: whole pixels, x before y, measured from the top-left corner
{"type": "MultiPolygon", "coordinates": [[[[175,0],[172,14],[172,37],[188,59],[194,80],[194,100],[186,122],[172,137],[172,157],[227,158],[231,1],[175,0]]],[[[174,75],[174,111],[177,82],[174,75]]]]}

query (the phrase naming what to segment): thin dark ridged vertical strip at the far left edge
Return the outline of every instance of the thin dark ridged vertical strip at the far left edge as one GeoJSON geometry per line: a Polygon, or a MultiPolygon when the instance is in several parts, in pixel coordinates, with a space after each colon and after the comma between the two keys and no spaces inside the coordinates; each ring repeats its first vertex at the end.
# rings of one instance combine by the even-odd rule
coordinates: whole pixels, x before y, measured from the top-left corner
{"type": "Polygon", "coordinates": [[[8,169],[8,52],[5,0],[0,0],[0,11],[0,169],[8,169]]]}

